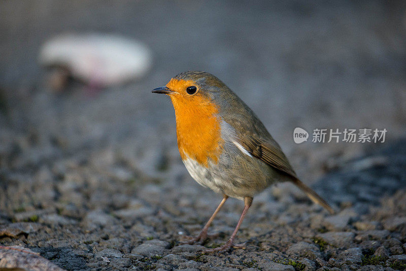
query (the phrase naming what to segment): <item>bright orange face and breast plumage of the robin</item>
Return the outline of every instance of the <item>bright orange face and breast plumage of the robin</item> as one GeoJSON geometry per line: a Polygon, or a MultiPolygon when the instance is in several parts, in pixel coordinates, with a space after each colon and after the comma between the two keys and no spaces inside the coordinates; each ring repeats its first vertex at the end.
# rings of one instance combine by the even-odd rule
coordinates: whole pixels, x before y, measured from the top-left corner
{"type": "MultiPolygon", "coordinates": [[[[171,89],[181,89],[179,84],[190,86],[193,82],[174,79],[167,84],[171,89]],[[178,84],[176,87],[173,84],[178,84]],[[171,85],[172,84],[172,85],[171,85]]],[[[184,87],[184,88],[186,88],[184,87]]],[[[217,106],[204,96],[171,95],[175,108],[179,153],[183,160],[192,158],[208,166],[218,162],[224,141],[221,138],[217,106]]]]}

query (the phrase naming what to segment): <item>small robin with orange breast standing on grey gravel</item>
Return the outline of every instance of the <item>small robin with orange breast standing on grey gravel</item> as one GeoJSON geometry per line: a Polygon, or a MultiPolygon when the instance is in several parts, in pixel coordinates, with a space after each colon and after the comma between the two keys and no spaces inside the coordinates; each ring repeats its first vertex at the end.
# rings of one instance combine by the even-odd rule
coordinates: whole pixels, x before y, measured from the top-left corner
{"type": "Polygon", "coordinates": [[[290,181],[315,203],[333,209],[296,176],[279,144],[255,113],[214,75],[188,71],[176,75],[153,93],[168,95],[175,108],[178,148],[197,183],[223,195],[223,200],[194,242],[204,242],[207,230],[228,197],[244,200],[235,230],[221,247],[233,241],[255,194],[278,182],[290,181]]]}

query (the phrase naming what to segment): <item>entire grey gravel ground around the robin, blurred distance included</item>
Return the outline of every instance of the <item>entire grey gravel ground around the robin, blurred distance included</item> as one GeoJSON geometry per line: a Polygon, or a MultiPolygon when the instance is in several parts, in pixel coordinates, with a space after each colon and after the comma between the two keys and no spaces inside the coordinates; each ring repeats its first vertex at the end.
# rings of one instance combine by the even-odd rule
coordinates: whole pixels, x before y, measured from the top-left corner
{"type": "Polygon", "coordinates": [[[54,3],[0,3],[0,268],[31,257],[55,270],[406,269],[404,4],[54,3]],[[52,94],[36,59],[65,31],[137,38],[154,67],[96,96],[78,82],[52,94]],[[221,200],[188,175],[170,101],[150,94],[190,69],[246,101],[337,214],[279,184],[254,198],[244,250],[199,253],[226,242],[243,209],[235,199],[203,246],[179,245],[221,200]],[[295,127],[388,134],[295,144],[295,127]]]}

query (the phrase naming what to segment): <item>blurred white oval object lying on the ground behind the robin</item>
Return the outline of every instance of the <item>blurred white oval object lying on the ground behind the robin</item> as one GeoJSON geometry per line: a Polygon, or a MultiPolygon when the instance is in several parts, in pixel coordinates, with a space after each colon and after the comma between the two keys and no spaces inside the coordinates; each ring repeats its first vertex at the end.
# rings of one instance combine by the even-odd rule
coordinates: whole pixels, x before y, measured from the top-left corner
{"type": "Polygon", "coordinates": [[[105,87],[141,78],[152,59],[150,50],[135,40],[111,34],[64,34],[42,46],[40,63],[61,67],[75,79],[105,87]]]}

